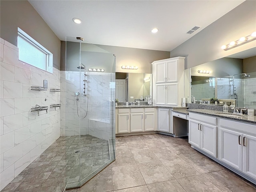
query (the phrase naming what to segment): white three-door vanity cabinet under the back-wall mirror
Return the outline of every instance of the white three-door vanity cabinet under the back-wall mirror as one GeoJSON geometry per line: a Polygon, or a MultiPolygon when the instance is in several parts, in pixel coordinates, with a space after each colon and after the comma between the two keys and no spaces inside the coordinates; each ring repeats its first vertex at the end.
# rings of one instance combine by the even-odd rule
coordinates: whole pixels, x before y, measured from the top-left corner
{"type": "Polygon", "coordinates": [[[116,109],[116,133],[146,132],[156,130],[155,108],[116,109]]]}

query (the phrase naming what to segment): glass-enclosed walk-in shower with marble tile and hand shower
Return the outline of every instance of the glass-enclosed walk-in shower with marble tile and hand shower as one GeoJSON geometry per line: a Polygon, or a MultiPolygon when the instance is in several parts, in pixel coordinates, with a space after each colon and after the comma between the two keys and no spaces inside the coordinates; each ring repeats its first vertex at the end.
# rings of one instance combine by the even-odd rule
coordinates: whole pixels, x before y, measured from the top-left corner
{"type": "Polygon", "coordinates": [[[68,189],[83,185],[115,159],[115,56],[82,38],[66,37],[60,90],[68,189]]]}

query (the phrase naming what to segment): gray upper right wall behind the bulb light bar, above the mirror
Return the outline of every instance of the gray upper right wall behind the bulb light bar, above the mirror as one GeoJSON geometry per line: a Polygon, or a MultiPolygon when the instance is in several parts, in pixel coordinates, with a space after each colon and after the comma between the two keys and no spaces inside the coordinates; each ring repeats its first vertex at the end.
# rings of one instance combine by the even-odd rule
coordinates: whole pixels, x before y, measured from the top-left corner
{"type": "MultiPolygon", "coordinates": [[[[207,16],[206,16],[207,17],[207,16]]],[[[184,56],[185,69],[229,56],[256,46],[255,41],[224,51],[220,47],[256,27],[256,1],[245,1],[198,34],[170,52],[170,57],[184,56]]]]}

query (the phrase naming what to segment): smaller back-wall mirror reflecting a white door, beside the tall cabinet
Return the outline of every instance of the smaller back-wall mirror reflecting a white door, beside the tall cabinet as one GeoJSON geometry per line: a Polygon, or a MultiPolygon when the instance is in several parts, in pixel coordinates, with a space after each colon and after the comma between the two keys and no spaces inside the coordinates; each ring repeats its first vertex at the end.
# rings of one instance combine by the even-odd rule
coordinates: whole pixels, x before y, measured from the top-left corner
{"type": "Polygon", "coordinates": [[[119,102],[134,102],[152,96],[152,74],[116,72],[116,98],[119,102]]]}

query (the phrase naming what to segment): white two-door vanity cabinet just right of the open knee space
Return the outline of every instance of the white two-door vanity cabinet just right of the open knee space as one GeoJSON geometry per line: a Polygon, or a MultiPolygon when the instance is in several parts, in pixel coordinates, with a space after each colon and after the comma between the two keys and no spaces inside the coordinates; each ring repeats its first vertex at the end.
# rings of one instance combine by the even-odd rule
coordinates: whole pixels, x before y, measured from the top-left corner
{"type": "Polygon", "coordinates": [[[189,113],[188,142],[207,154],[217,157],[217,118],[189,113]]]}

